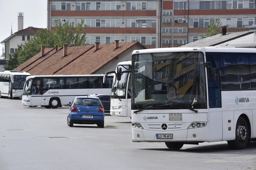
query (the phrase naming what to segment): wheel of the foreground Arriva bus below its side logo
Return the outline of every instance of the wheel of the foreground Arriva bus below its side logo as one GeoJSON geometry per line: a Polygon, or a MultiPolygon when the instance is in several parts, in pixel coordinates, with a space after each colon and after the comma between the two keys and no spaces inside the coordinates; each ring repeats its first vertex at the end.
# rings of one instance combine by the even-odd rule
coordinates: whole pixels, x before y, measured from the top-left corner
{"type": "Polygon", "coordinates": [[[236,122],[236,138],[233,141],[228,141],[228,146],[231,149],[244,149],[249,142],[249,128],[246,120],[239,117],[236,122]]]}

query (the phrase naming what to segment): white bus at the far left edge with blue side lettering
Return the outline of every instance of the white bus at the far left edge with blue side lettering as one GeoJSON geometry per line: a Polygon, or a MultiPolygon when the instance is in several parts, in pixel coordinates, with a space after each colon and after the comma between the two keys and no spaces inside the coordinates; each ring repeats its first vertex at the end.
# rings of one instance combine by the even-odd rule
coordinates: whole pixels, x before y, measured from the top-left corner
{"type": "Polygon", "coordinates": [[[22,96],[24,81],[31,74],[23,71],[0,72],[0,97],[19,98],[22,96]]]}

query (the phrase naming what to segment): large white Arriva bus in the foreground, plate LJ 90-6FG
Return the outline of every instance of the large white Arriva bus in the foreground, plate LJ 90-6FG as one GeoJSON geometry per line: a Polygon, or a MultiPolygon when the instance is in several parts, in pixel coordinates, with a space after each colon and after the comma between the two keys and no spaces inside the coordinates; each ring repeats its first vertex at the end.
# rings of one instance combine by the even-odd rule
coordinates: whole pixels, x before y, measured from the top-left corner
{"type": "Polygon", "coordinates": [[[256,138],[256,49],[134,50],[131,105],[133,142],[244,149],[256,138]]]}

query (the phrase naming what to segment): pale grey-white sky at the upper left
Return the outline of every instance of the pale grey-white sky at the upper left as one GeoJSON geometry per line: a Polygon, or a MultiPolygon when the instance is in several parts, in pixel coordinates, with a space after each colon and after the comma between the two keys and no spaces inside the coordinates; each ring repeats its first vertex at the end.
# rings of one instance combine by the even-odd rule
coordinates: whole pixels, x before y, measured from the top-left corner
{"type": "MultiPolygon", "coordinates": [[[[47,0],[0,0],[0,42],[18,31],[18,12],[24,13],[23,29],[47,28],[47,0]]],[[[0,43],[0,56],[4,45],[0,43]]],[[[5,52],[5,51],[4,51],[5,52]]]]}

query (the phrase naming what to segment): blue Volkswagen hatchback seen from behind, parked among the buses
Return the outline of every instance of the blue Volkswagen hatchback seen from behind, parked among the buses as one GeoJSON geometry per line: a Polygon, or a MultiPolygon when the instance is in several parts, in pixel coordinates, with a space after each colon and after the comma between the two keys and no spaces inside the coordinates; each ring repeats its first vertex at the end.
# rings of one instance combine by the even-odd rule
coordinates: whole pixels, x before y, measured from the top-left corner
{"type": "Polygon", "coordinates": [[[67,123],[69,127],[74,124],[97,124],[104,128],[104,115],[99,97],[77,96],[69,107],[67,123]]]}

